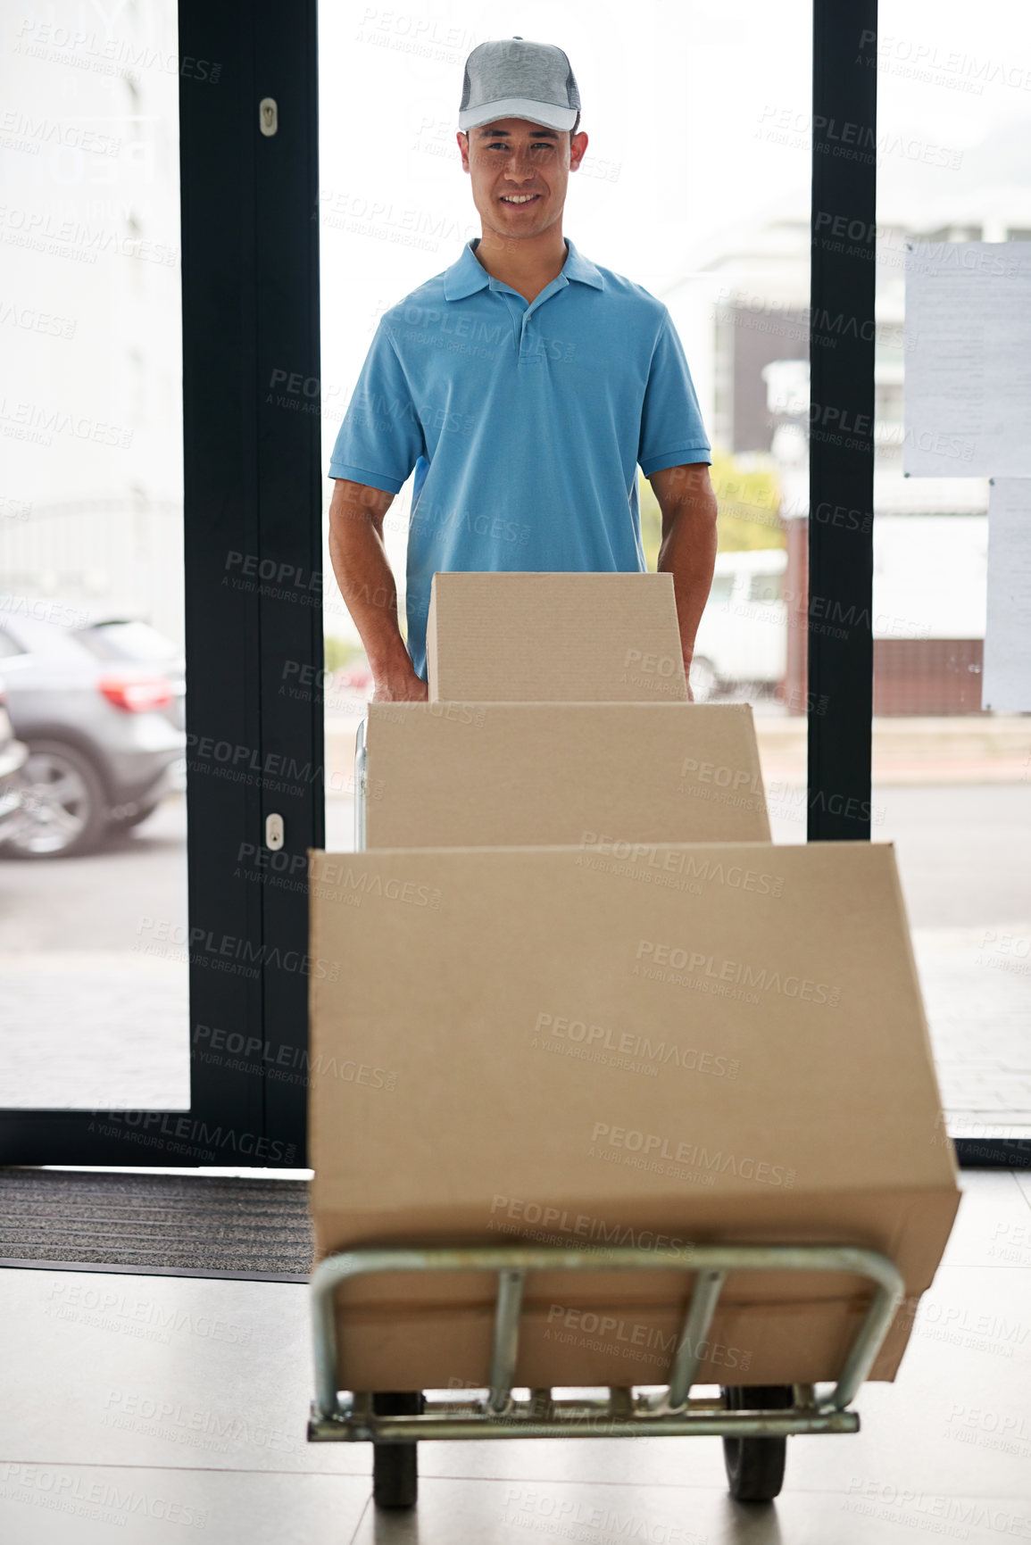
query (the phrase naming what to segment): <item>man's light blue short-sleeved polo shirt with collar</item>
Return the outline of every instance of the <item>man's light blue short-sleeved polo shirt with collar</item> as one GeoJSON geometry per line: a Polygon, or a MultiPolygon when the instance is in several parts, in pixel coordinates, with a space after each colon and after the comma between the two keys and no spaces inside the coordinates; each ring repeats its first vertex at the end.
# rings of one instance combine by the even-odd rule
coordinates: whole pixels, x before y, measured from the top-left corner
{"type": "Polygon", "coordinates": [[[424,678],[436,572],[641,570],[637,467],[711,460],[660,300],[566,239],[529,303],[478,246],[383,314],[329,462],[388,493],[414,468],[408,654],[424,678]]]}

